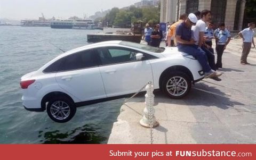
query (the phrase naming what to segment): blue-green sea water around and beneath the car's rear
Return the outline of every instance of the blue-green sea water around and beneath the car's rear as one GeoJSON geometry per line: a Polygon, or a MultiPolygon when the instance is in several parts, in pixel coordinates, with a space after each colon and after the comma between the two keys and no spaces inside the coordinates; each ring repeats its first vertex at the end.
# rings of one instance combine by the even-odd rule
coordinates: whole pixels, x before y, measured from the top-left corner
{"type": "Polygon", "coordinates": [[[20,77],[62,52],[87,45],[87,34],[100,30],[0,26],[0,144],[104,144],[124,99],[78,107],[67,123],[46,112],[26,111],[20,77]],[[50,44],[52,43],[52,44],[50,44]]]}

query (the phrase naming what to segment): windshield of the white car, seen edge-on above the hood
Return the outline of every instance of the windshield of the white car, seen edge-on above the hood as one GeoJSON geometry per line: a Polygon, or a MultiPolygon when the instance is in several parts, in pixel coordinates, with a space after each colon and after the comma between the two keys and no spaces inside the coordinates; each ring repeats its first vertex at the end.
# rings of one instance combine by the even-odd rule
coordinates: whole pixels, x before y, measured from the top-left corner
{"type": "Polygon", "coordinates": [[[128,47],[134,47],[134,48],[138,48],[138,49],[147,50],[149,52],[154,52],[154,53],[162,53],[165,50],[165,48],[157,48],[157,47],[152,47],[152,46],[148,46],[148,45],[132,43],[130,41],[121,41],[121,43],[119,43],[119,44],[128,46],[128,47]]]}

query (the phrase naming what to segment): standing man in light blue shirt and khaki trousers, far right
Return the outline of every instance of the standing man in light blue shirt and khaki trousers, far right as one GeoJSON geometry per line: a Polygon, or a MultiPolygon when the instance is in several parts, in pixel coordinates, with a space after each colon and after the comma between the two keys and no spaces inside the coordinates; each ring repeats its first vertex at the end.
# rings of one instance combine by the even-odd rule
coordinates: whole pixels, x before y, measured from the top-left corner
{"type": "Polygon", "coordinates": [[[254,44],[254,29],[255,28],[255,23],[252,22],[249,24],[248,28],[245,28],[244,30],[242,30],[241,32],[238,33],[238,35],[243,38],[243,51],[242,51],[242,56],[241,56],[241,64],[245,65],[245,64],[250,64],[247,62],[247,56],[250,53],[251,50],[251,46],[253,44],[253,47],[255,48],[255,44],[254,44]]]}

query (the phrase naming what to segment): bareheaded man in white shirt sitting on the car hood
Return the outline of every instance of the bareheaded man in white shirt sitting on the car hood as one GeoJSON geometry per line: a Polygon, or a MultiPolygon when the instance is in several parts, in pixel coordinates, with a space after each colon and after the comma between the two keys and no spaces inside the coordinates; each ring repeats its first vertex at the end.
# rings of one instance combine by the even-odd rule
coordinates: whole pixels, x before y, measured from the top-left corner
{"type": "MultiPolygon", "coordinates": [[[[192,26],[191,30],[193,31],[193,38],[196,41],[196,45],[198,46],[198,50],[201,50],[202,54],[206,54],[208,63],[212,70],[216,71],[215,65],[215,57],[214,54],[207,48],[211,48],[209,45],[204,45],[204,32],[206,28],[206,23],[211,20],[211,11],[203,10],[201,12],[201,19],[196,22],[196,26],[192,26]]],[[[212,79],[220,81],[220,78],[217,78],[222,73],[216,72],[216,76],[212,79]]]]}

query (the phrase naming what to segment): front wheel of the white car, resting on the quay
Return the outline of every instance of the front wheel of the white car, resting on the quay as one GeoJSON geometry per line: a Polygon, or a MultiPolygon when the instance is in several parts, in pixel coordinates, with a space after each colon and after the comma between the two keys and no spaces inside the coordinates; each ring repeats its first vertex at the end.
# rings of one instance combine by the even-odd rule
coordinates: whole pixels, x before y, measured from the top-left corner
{"type": "Polygon", "coordinates": [[[189,75],[181,71],[169,72],[162,81],[165,94],[173,99],[179,99],[188,94],[191,89],[189,75]]]}

